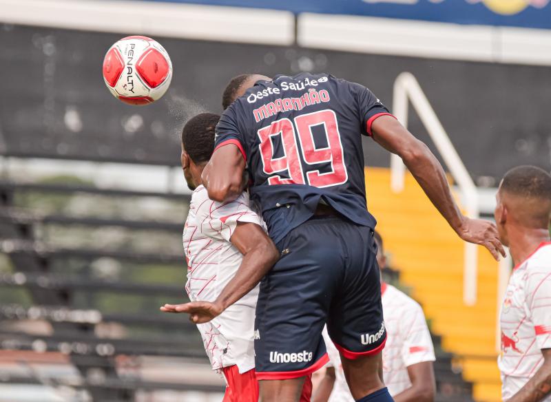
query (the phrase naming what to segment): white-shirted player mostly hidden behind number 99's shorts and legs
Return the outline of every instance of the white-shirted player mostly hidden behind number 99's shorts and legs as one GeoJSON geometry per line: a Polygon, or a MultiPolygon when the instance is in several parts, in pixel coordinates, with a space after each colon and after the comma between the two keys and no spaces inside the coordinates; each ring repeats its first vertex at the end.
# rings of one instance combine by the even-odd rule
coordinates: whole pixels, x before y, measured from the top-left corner
{"type": "MultiPolygon", "coordinates": [[[[375,240],[379,246],[377,261],[380,267],[384,268],[386,261],[382,239],[378,233],[375,233],[375,240]]],[[[382,354],[384,384],[397,401],[433,401],[435,379],[432,362],[435,361],[435,352],[423,310],[417,301],[386,283],[381,284],[381,295],[384,322],[388,332],[382,354]],[[414,375],[410,376],[412,370],[414,375]],[[415,379],[415,383],[411,377],[415,379]]],[[[333,370],[329,369],[329,374],[326,374],[326,379],[322,380],[320,385],[320,392],[314,393],[313,401],[353,402],[340,365],[339,352],[326,330],[324,341],[335,381],[329,396],[329,387],[324,384],[325,381],[332,380],[333,370]]]]}

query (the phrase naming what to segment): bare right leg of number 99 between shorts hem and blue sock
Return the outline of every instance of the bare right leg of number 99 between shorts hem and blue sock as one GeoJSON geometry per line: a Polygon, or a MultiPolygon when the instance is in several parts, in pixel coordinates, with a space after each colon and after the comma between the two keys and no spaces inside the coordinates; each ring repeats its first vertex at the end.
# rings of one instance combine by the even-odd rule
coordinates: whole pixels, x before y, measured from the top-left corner
{"type": "Polygon", "coordinates": [[[382,355],[362,356],[357,359],[346,359],[341,353],[344,377],[349,384],[350,392],[355,400],[373,394],[384,388],[382,381],[382,355]]]}

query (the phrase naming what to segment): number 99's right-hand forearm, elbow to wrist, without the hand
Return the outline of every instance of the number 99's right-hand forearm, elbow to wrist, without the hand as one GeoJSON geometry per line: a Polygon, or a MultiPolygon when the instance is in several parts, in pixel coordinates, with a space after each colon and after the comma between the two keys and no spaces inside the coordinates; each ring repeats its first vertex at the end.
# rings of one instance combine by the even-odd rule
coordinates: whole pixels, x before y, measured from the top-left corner
{"type": "Polygon", "coordinates": [[[453,199],[444,169],[430,149],[415,140],[400,156],[439,213],[457,233],[461,233],[464,215],[453,199]]]}

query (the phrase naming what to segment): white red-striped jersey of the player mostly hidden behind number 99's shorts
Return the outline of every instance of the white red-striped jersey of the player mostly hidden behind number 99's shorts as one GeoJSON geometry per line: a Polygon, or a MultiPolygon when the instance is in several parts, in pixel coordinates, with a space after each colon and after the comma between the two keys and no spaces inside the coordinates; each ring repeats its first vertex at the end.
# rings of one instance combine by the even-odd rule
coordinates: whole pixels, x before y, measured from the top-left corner
{"type": "MultiPolygon", "coordinates": [[[[395,396],[411,386],[408,366],[435,361],[435,352],[419,303],[391,285],[382,284],[381,293],[388,337],[383,349],[383,377],[388,392],[395,396]]],[[[344,379],[339,352],[326,330],[324,340],[329,359],[335,367],[335,385],[329,402],[353,402],[344,379]]]]}

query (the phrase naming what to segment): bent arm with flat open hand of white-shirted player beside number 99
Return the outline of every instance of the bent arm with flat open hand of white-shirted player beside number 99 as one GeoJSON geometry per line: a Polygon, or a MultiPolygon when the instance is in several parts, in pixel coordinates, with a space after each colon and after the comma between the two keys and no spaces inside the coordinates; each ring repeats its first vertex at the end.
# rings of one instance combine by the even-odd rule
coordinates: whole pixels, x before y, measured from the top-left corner
{"type": "Polygon", "coordinates": [[[243,260],[236,276],[222,289],[215,301],[165,304],[160,310],[166,313],[188,313],[189,320],[195,324],[211,321],[253,290],[279,259],[278,249],[258,224],[238,222],[230,241],[242,253],[243,260]]]}

